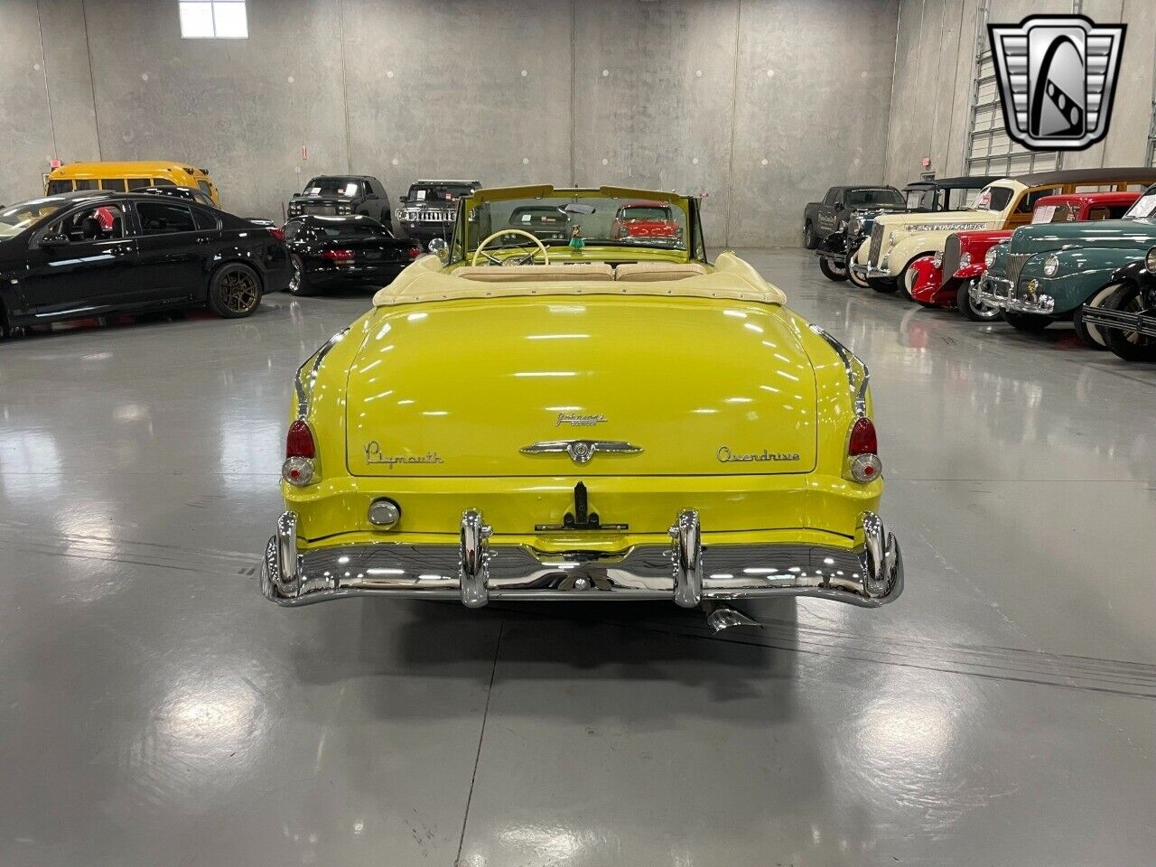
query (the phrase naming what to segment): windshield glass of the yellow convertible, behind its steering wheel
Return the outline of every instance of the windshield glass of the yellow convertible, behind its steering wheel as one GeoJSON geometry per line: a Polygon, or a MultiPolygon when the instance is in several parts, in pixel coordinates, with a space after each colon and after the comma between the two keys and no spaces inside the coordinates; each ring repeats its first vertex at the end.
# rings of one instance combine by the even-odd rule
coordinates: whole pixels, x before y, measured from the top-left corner
{"type": "MultiPolygon", "coordinates": [[[[547,246],[647,246],[687,249],[687,214],[677,203],[633,205],[598,195],[483,201],[469,213],[469,250],[502,229],[529,232],[547,246]],[[655,227],[660,221],[661,227],[655,227]],[[660,229],[660,230],[659,230],[660,229]]],[[[525,245],[523,235],[498,236],[487,247],[525,245]]]]}

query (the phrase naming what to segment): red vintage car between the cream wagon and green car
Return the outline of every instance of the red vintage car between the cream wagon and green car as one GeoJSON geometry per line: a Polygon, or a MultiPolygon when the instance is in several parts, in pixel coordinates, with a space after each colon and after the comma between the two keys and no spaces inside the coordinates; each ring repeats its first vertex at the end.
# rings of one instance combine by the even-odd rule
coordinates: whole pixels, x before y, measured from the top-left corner
{"type": "MultiPolygon", "coordinates": [[[[1118,220],[1139,198],[1139,192],[1044,195],[1036,200],[1031,222],[1118,220]]],[[[998,307],[978,304],[966,290],[986,271],[987,251],[1010,237],[1010,229],[956,232],[948,236],[942,258],[925,255],[912,264],[917,274],[911,289],[912,299],[925,307],[958,306],[965,317],[975,321],[999,319],[998,307]]]]}

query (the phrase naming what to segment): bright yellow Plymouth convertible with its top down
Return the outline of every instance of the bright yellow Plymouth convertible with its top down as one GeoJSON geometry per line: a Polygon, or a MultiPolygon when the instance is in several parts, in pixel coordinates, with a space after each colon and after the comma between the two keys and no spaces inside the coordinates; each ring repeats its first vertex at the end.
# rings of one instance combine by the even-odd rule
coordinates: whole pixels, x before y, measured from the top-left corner
{"type": "Polygon", "coordinates": [[[899,595],[866,366],[697,199],[479,190],[435,250],[297,372],[266,598],[899,595]],[[639,200],[677,225],[615,231],[639,200]]]}

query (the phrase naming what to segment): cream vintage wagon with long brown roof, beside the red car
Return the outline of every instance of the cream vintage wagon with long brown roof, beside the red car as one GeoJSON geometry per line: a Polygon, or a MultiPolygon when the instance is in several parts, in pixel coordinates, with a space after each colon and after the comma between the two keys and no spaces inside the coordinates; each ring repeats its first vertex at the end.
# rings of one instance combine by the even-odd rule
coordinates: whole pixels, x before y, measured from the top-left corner
{"type": "Polygon", "coordinates": [[[872,227],[852,262],[855,276],[879,291],[899,289],[911,295],[924,255],[942,253],[949,235],[985,229],[1015,229],[1031,222],[1036,200],[1044,195],[1084,191],[1143,190],[1156,169],[1070,169],[1003,178],[984,187],[963,210],[938,214],[883,214],[872,227]]]}

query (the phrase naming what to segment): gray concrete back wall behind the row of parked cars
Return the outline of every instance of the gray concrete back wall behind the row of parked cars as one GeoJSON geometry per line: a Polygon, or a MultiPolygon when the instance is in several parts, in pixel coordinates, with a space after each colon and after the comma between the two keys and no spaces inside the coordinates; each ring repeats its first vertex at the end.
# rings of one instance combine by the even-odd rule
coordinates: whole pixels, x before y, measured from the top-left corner
{"type": "Polygon", "coordinates": [[[0,201],[52,156],[176,158],[249,215],[329,171],[614,183],[793,245],[829,184],[883,178],[898,3],[249,0],[249,39],[184,40],[175,0],[0,0],[0,201]]]}

